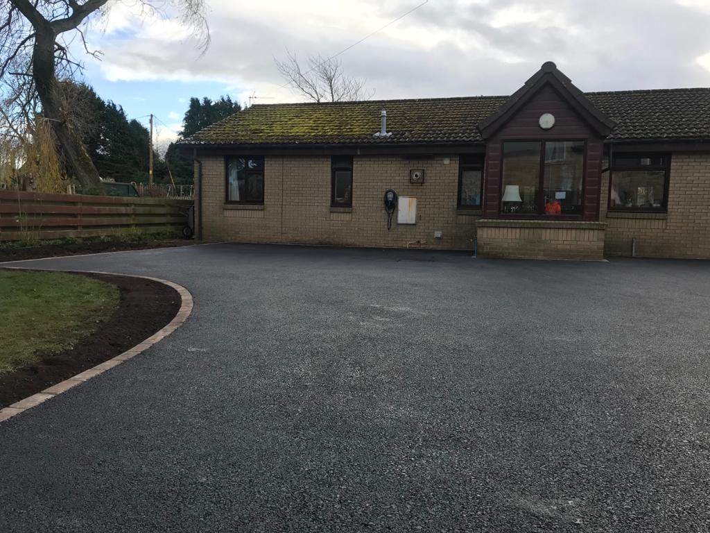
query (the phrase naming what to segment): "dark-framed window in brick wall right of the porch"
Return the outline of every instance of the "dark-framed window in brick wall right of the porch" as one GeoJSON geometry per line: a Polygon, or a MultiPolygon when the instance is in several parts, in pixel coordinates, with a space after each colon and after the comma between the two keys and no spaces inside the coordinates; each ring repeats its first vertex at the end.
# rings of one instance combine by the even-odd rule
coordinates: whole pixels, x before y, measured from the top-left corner
{"type": "Polygon", "coordinates": [[[665,211],[669,168],[668,154],[613,154],[609,209],[665,211]]]}

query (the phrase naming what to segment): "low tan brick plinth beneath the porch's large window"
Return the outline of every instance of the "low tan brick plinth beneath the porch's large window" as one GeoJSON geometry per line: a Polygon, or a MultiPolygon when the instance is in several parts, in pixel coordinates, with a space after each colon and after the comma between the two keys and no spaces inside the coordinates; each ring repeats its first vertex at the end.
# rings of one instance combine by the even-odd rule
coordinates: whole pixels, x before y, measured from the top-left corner
{"type": "Polygon", "coordinates": [[[484,219],[477,225],[480,257],[603,259],[603,222],[484,219]]]}

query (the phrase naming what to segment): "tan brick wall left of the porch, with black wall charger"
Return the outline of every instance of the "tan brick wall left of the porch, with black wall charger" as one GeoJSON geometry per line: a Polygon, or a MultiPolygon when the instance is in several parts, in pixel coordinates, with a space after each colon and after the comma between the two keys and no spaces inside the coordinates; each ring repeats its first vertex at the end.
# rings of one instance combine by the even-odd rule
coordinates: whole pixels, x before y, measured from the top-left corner
{"type": "Polygon", "coordinates": [[[263,210],[224,205],[223,157],[203,161],[203,237],[209,241],[285,242],[346,246],[470,249],[480,216],[457,213],[458,158],[405,161],[399,156],[354,156],[351,212],[331,212],[330,157],[267,156],[263,210]],[[423,168],[425,183],[409,182],[410,169],[423,168]],[[387,230],[385,190],[417,198],[417,223],[387,230]],[[434,232],[442,232],[435,239],[434,232]]]}

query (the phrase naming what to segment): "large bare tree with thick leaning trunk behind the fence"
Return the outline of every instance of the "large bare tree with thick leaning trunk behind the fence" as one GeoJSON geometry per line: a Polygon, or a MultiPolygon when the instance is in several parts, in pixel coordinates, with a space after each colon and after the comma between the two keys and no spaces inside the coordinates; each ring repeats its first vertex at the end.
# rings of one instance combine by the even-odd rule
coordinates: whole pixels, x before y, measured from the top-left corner
{"type": "MultiPolygon", "coordinates": [[[[80,134],[72,128],[59,80],[82,69],[80,61],[70,55],[72,38],[81,38],[86,53],[98,53],[87,47],[84,31],[92,18],[107,14],[111,4],[109,0],[0,0],[0,80],[3,85],[7,77],[22,80],[9,84],[15,87],[11,91],[14,111],[9,116],[31,117],[38,100],[67,170],[87,188],[100,184],[99,173],[80,134]]],[[[195,29],[202,50],[209,45],[204,0],[154,0],[152,4],[151,0],[131,0],[131,5],[136,4],[143,6],[146,14],[178,9],[182,22],[195,29]]],[[[3,96],[6,99],[7,95],[3,96]]]]}

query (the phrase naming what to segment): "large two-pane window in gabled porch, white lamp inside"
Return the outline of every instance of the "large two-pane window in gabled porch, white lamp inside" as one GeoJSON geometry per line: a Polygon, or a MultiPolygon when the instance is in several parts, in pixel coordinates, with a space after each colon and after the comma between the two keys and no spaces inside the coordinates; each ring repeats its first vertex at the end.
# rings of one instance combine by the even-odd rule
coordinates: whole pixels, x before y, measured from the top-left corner
{"type": "Polygon", "coordinates": [[[581,215],[584,151],[584,141],[504,143],[501,212],[581,215]]]}

